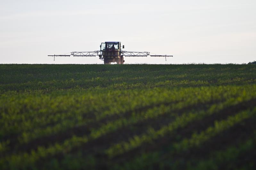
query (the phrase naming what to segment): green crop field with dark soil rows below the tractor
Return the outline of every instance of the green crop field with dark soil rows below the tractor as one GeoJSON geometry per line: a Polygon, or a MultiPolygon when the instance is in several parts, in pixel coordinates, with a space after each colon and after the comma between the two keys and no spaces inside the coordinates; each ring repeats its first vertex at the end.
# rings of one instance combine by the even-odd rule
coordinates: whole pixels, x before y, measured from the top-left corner
{"type": "Polygon", "coordinates": [[[0,65],[0,169],[255,169],[256,65],[0,65]]]}

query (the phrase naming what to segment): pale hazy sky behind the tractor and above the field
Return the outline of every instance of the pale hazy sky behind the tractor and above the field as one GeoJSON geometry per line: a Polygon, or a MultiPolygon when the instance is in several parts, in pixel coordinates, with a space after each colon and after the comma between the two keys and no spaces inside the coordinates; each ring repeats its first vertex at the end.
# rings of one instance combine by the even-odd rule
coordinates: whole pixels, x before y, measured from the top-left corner
{"type": "Polygon", "coordinates": [[[248,63],[256,60],[256,1],[0,1],[0,63],[103,63],[47,55],[99,50],[104,41],[174,55],[125,63],[248,63]]]}

